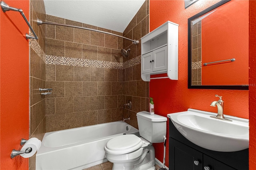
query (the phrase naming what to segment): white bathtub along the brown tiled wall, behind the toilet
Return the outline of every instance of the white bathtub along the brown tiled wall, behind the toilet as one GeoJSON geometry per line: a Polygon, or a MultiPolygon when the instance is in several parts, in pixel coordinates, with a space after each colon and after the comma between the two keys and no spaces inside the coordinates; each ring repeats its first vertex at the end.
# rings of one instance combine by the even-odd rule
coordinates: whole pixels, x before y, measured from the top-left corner
{"type": "Polygon", "coordinates": [[[139,136],[122,121],[48,132],[36,154],[36,170],[82,170],[106,162],[106,142],[124,133],[139,136]]]}

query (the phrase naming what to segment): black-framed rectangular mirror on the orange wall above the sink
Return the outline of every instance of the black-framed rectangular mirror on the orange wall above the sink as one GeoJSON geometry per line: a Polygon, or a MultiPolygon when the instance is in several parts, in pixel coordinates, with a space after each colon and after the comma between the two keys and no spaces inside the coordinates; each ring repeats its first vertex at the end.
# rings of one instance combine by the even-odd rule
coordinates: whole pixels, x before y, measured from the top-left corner
{"type": "Polygon", "coordinates": [[[248,1],[222,0],[188,18],[188,88],[248,90],[248,1]]]}

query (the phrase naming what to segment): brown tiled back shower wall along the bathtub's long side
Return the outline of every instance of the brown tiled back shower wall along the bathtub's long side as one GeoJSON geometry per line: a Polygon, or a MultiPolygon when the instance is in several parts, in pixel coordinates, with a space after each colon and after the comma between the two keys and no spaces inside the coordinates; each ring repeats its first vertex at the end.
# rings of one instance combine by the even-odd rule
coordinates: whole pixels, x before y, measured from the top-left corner
{"type": "MultiPolygon", "coordinates": [[[[46,16],[46,21],[122,33],[46,16]]],[[[46,25],[46,132],[122,120],[123,70],[116,36],[46,25]]]]}

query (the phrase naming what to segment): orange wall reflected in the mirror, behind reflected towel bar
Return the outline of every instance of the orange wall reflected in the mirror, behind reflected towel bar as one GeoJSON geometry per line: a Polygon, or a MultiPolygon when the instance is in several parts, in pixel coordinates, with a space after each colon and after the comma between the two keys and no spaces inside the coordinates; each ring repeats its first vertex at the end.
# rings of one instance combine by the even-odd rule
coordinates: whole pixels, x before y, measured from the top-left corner
{"type": "Polygon", "coordinates": [[[248,16],[249,2],[240,0],[230,1],[202,19],[202,63],[236,59],[202,65],[202,85],[248,85],[248,16]]]}

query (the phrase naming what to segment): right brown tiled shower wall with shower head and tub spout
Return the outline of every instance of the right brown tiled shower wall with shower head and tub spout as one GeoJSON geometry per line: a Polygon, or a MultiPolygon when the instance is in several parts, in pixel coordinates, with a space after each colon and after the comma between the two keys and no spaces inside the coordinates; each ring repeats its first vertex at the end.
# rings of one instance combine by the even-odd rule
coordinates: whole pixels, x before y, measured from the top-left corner
{"type": "Polygon", "coordinates": [[[149,0],[146,0],[138,10],[137,14],[134,16],[130,24],[126,27],[123,32],[123,36],[130,38],[132,40],[139,40],[138,45],[132,44],[131,41],[124,39],[123,48],[131,49],[129,51],[129,57],[124,59],[124,87],[123,95],[125,97],[125,102],[128,103],[128,100],[132,101],[132,108],[124,109],[124,117],[130,117],[130,121],[126,121],[135,128],[138,128],[136,113],[139,111],[148,111],[148,87],[149,83],[142,81],[140,77],[141,72],[141,41],[140,38],[148,34],[149,32],[149,0]],[[128,61],[132,65],[127,65],[128,61]]]}

